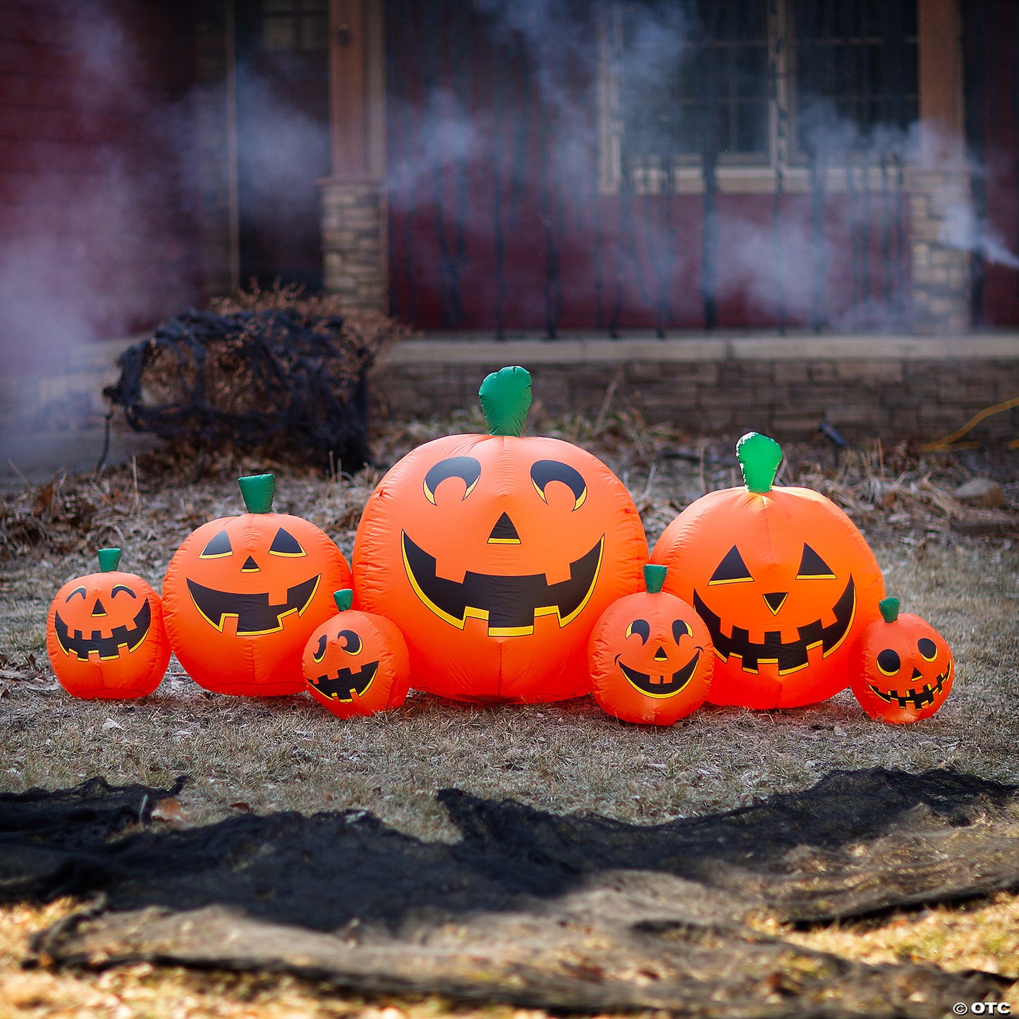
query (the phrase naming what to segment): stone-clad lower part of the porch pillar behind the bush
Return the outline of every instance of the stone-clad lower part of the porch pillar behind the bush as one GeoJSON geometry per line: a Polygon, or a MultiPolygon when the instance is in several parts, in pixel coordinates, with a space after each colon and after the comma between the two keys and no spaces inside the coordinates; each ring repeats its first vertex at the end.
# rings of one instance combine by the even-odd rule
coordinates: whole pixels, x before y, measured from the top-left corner
{"type": "Polygon", "coordinates": [[[340,177],[322,189],[325,288],[352,308],[388,308],[385,195],[377,181],[340,177]]]}

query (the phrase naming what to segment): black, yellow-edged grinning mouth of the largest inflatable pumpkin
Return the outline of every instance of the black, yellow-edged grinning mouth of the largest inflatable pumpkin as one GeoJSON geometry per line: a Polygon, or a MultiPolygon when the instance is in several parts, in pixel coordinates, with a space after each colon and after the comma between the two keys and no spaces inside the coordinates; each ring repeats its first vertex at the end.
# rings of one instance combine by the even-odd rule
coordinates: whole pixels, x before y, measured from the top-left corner
{"type": "Polygon", "coordinates": [[[490,637],[534,633],[539,615],[572,623],[594,591],[605,547],[602,535],[590,551],[570,564],[570,579],[549,584],[544,574],[503,576],[468,571],[464,580],[435,575],[435,557],[404,534],[404,567],[418,597],[440,619],[463,630],[467,620],[487,620],[490,637]]]}

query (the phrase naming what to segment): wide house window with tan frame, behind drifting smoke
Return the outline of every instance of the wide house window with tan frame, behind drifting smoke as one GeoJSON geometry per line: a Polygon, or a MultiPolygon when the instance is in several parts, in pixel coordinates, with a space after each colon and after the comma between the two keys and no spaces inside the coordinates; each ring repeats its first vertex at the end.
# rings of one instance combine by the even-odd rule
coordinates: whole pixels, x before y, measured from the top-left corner
{"type": "Polygon", "coordinates": [[[695,190],[705,161],[743,190],[804,167],[818,148],[887,145],[917,118],[914,3],[609,0],[601,10],[603,190],[695,190]]]}

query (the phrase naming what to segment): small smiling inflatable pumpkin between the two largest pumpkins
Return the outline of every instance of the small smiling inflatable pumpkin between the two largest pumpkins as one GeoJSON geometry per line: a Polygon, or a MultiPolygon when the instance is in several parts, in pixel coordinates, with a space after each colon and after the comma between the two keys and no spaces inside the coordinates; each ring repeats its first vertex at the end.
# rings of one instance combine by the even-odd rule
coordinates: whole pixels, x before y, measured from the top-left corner
{"type": "Polygon", "coordinates": [[[591,634],[594,699],[624,721],[672,726],[704,703],[711,682],[707,627],[661,590],[665,574],[664,567],[644,567],[647,590],[609,605],[591,634]]]}

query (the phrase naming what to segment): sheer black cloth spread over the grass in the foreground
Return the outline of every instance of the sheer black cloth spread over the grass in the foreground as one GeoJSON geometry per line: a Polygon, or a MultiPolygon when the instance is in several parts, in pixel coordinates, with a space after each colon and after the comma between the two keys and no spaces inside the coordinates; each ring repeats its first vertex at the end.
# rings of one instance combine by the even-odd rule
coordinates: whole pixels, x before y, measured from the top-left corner
{"type": "Polygon", "coordinates": [[[941,1017],[1010,982],[851,962],[748,922],[818,923],[1015,888],[1019,788],[971,775],[834,771],[805,792],[648,826],[441,790],[454,843],[422,842],[365,810],[151,826],[153,806],[182,782],[93,779],[0,796],[0,901],[90,901],[37,936],[37,961],[152,960],[292,972],[361,994],[725,1016],[941,1017]]]}

